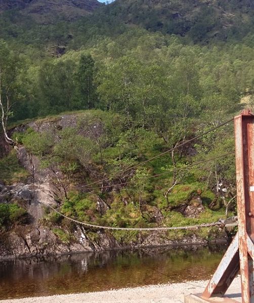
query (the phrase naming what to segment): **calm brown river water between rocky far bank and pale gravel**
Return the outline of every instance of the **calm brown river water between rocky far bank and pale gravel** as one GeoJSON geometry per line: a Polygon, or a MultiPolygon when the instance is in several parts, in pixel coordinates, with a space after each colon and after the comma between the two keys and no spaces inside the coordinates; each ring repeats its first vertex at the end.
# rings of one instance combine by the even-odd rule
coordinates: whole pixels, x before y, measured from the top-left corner
{"type": "Polygon", "coordinates": [[[224,248],[107,251],[0,262],[0,299],[207,279],[224,248]]]}

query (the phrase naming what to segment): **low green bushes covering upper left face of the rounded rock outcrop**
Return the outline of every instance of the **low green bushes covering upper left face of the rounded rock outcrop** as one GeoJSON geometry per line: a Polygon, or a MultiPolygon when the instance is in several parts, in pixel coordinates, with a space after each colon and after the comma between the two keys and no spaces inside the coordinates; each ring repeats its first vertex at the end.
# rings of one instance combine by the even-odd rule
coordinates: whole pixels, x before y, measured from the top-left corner
{"type": "Polygon", "coordinates": [[[40,133],[28,128],[23,133],[15,132],[13,138],[40,159],[41,167],[58,165],[68,175],[75,173],[79,167],[88,167],[95,143],[78,134],[74,127],[60,129],[57,135],[52,129],[40,133]]]}

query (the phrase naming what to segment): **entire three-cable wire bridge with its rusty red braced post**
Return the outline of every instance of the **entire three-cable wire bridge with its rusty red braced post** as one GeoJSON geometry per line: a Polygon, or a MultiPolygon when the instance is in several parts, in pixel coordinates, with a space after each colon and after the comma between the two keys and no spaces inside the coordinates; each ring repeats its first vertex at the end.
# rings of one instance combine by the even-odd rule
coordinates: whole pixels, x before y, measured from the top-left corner
{"type": "MultiPolygon", "coordinates": [[[[174,148],[168,149],[163,153],[152,157],[142,163],[135,166],[124,169],[116,174],[105,177],[101,180],[84,185],[83,188],[86,190],[93,190],[95,188],[110,188],[117,185],[125,185],[130,181],[121,182],[113,185],[104,185],[103,182],[109,179],[113,179],[116,176],[122,175],[130,170],[134,170],[137,167],[144,165],[162,155],[170,153],[176,148],[179,148],[187,143],[197,140],[201,136],[208,134],[209,132],[215,131],[219,127],[227,125],[234,121],[235,127],[235,151],[230,151],[227,154],[220,155],[215,158],[204,160],[198,163],[188,165],[187,168],[200,165],[215,159],[227,157],[235,153],[236,159],[236,185],[237,185],[237,208],[238,217],[234,218],[233,223],[225,224],[225,222],[211,222],[207,224],[193,225],[193,226],[175,226],[175,227],[153,227],[153,228],[123,228],[113,226],[99,226],[90,224],[87,222],[80,222],[73,218],[70,218],[57,209],[50,205],[44,204],[51,210],[63,216],[64,218],[73,221],[77,224],[82,224],[87,227],[98,228],[98,229],[110,229],[110,230],[138,230],[138,231],[156,231],[156,230],[187,230],[187,229],[198,229],[211,226],[228,227],[238,225],[238,232],[231,242],[226,254],[224,255],[221,263],[218,266],[213,277],[211,277],[205,290],[199,295],[187,295],[185,297],[185,303],[236,303],[232,298],[225,297],[225,293],[234,278],[240,270],[241,275],[241,301],[242,303],[254,303],[254,115],[250,110],[244,110],[239,116],[230,119],[200,135],[197,135],[174,148]],[[95,184],[101,184],[98,187],[94,187],[95,184]]],[[[186,169],[186,168],[180,168],[186,169]]],[[[148,176],[142,178],[142,180],[148,178],[156,178],[164,174],[170,174],[173,171],[167,171],[162,174],[148,176]]]]}

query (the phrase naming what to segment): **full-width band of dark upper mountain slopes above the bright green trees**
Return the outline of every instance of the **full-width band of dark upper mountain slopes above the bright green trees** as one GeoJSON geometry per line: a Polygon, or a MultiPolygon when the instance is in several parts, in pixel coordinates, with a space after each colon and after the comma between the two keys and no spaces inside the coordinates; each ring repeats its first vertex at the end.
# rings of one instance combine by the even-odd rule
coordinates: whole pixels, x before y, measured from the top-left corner
{"type": "Polygon", "coordinates": [[[0,19],[0,37],[18,37],[29,44],[44,44],[50,36],[53,44],[67,45],[66,32],[82,42],[96,35],[112,37],[133,25],[185,37],[187,43],[241,41],[254,32],[254,3],[250,0],[116,0],[109,5],[97,0],[0,0],[0,12],[5,12],[0,19]],[[77,21],[41,28],[31,24],[31,17],[45,26],[77,21]]]}

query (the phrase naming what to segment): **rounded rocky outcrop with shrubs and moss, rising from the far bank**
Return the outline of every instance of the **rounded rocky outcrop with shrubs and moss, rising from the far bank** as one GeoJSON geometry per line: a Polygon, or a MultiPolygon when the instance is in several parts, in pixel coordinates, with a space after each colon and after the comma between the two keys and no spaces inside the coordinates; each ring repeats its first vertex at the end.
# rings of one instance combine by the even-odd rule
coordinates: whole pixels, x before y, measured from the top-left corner
{"type": "MultiPolygon", "coordinates": [[[[10,131],[17,153],[13,150],[0,159],[2,258],[227,239],[225,230],[217,228],[149,233],[97,230],[47,208],[81,222],[112,227],[184,226],[225,217],[223,199],[214,189],[213,169],[209,175],[207,166],[186,166],[188,161],[206,158],[190,155],[198,153],[193,150],[197,141],[182,150],[182,159],[176,159],[178,167],[186,166],[186,172],[176,173],[175,185],[169,155],[120,174],[166,149],[155,132],[134,127],[130,134],[125,122],[119,114],[80,111],[25,122],[10,131]],[[153,177],[156,174],[161,176],[153,177]],[[106,176],[105,181],[92,183],[106,176]],[[207,177],[210,187],[205,184],[207,177]]],[[[230,139],[223,130],[216,137],[230,139]]],[[[231,143],[225,148],[232,148],[231,143]]],[[[226,176],[232,157],[209,165],[220,166],[217,173],[226,176]]],[[[226,201],[232,190],[228,181],[223,179],[228,193],[220,193],[226,201]]]]}

